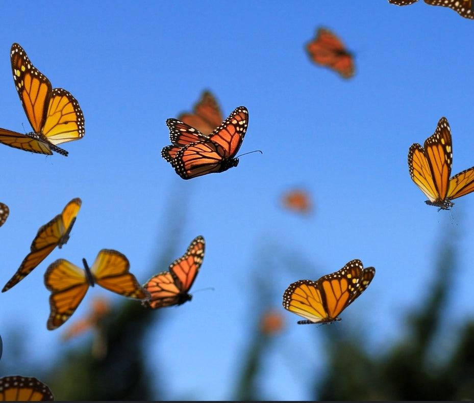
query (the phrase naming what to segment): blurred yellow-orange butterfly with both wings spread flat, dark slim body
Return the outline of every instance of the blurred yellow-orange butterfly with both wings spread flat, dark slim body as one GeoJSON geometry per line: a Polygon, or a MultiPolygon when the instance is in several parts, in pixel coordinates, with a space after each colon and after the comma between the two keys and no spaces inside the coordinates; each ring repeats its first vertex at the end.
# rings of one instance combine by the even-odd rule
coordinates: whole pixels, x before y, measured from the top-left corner
{"type": "Polygon", "coordinates": [[[124,297],[137,300],[150,298],[132,273],[127,257],[112,249],[102,249],[89,268],[82,259],[84,269],[65,259],[51,263],[44,273],[44,285],[51,291],[51,313],[46,324],[48,330],[59,328],[73,313],[86,295],[89,286],[100,285],[124,297]]]}

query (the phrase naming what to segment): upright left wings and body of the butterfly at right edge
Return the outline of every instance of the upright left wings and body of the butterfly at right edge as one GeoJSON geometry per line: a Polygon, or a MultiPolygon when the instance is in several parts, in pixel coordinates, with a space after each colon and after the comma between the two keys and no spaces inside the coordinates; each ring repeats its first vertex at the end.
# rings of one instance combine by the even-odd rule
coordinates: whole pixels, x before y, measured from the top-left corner
{"type": "Polygon", "coordinates": [[[451,129],[443,117],[434,134],[425,140],[425,148],[415,143],[408,152],[410,177],[428,197],[428,204],[444,209],[452,206],[446,199],[452,162],[451,129]]]}

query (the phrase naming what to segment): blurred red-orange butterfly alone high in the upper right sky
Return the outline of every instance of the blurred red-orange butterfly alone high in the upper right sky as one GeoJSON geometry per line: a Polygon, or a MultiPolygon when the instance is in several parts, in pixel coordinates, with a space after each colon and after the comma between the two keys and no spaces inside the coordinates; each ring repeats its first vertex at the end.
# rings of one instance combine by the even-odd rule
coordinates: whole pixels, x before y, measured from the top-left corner
{"type": "Polygon", "coordinates": [[[318,28],[316,38],[306,44],[306,50],[314,63],[333,69],[343,78],[354,75],[352,53],[345,49],[342,41],[331,31],[318,28]]]}

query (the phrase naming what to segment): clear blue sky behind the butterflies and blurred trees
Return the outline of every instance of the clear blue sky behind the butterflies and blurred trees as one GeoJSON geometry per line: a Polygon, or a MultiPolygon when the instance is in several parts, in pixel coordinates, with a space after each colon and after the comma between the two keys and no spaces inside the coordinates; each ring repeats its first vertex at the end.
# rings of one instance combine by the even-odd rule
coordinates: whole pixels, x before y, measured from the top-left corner
{"type": "MultiPolygon", "coordinates": [[[[34,359],[51,362],[67,347],[60,342],[67,323],[46,330],[48,264],[65,258],[80,265],[83,257],[91,264],[99,250],[116,249],[144,282],[167,237],[174,193],[187,210],[176,257],[204,235],[206,256],[193,289],[215,291],[165,310],[166,326],[149,335],[149,365],[158,368],[159,360],[166,368],[160,379],[168,398],[230,397],[253,325],[255,261],[265,248],[299,257],[294,273],[266,269],[287,322],[278,345],[294,346],[302,356],[294,370],[285,353],[269,359],[263,388],[270,398],[309,398],[306,380],[296,373],[313,371],[323,355],[314,334],[325,327],[297,326],[300,317],[281,307],[285,288],[301,278],[298,271],[317,279],[356,258],[375,266],[363,297],[333,326],[363,328],[383,349],[403,333],[404,312],[424,295],[440,233],[459,225],[465,238],[450,320],[455,327],[472,316],[474,195],[456,200],[452,217],[438,212],[423,202],[407,167],[410,145],[431,136],[442,116],[451,125],[453,174],[474,165],[472,20],[422,2],[318,0],[47,7],[27,1],[21,8],[3,4],[0,21],[0,127],[30,130],[11,75],[13,42],[53,87],[78,99],[85,117],[84,138],[63,144],[68,157],[0,145],[1,201],[10,207],[0,228],[2,286],[38,228],[72,198],[82,199],[67,245],[0,295],[0,334],[16,327],[30,340],[25,348],[34,359]],[[310,63],[304,45],[318,26],[333,30],[355,53],[353,79],[310,63]],[[169,144],[165,121],[189,111],[204,89],[217,96],[226,116],[246,106],[240,152],[263,154],[184,181],[160,155],[169,144]],[[309,218],[280,207],[281,194],[294,185],[313,195],[316,211],[309,218]],[[310,266],[301,267],[302,261],[310,266]]],[[[87,313],[94,295],[120,298],[98,288],[89,290],[69,323],[87,313]]],[[[4,337],[3,360],[7,350],[4,337]]]]}

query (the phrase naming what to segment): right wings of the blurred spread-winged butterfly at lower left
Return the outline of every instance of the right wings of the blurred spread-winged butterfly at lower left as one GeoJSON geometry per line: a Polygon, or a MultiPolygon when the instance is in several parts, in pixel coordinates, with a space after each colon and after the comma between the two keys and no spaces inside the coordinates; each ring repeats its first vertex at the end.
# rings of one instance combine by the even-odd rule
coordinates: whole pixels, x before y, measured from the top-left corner
{"type": "MultiPolygon", "coordinates": [[[[99,251],[90,272],[94,282],[124,297],[148,300],[150,294],[129,273],[130,262],[125,255],[112,249],[99,251]]],[[[87,271],[87,268],[86,268],[87,271]]]]}

